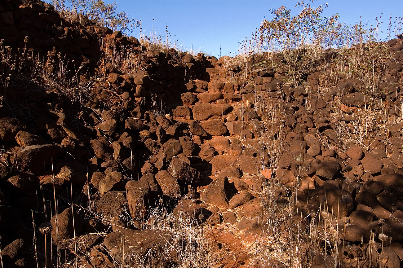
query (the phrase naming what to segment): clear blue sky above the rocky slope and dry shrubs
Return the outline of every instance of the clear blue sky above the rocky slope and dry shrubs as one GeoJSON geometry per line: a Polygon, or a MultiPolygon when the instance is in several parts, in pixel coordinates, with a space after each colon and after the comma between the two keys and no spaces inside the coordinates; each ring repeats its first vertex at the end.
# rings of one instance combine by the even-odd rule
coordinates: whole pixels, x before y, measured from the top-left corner
{"type": "MultiPolygon", "coordinates": [[[[105,2],[108,2],[106,0],[105,2]]],[[[305,1],[308,2],[308,1],[305,1]]],[[[384,25],[390,15],[403,17],[402,0],[326,0],[328,7],[323,16],[339,13],[339,22],[355,24],[362,16],[363,23],[375,22],[382,16],[384,25]],[[383,12],[383,15],[381,13],[383,12]]],[[[150,36],[153,31],[166,39],[166,26],[172,44],[174,40],[182,50],[204,52],[212,56],[235,55],[239,42],[251,37],[264,18],[270,20],[270,8],[281,5],[294,8],[296,0],[119,0],[119,10],[141,20],[141,31],[150,36]],[[153,20],[154,19],[154,20],[153,20]],[[176,35],[176,36],[175,36],[176,35]],[[221,46],[221,51],[220,51],[221,46]]],[[[312,7],[324,4],[322,0],[310,3],[312,7]]],[[[139,28],[131,35],[139,37],[139,28]]]]}

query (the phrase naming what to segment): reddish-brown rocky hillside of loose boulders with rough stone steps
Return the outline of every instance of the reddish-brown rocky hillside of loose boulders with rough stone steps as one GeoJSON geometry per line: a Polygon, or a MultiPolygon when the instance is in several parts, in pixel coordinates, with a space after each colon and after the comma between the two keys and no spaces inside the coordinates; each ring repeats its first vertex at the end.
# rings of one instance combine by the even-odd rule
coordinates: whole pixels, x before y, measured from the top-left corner
{"type": "Polygon", "coordinates": [[[0,38],[4,267],[401,266],[401,39],[379,81],[295,86],[282,54],[229,66],[43,2],[0,0],[0,38]]]}

